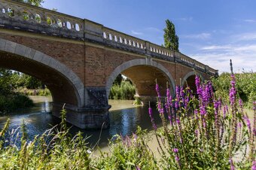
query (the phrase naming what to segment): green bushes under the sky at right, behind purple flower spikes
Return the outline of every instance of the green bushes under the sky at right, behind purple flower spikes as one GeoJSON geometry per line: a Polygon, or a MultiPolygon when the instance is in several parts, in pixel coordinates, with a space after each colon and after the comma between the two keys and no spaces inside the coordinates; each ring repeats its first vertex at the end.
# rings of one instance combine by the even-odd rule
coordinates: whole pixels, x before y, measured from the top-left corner
{"type": "MultiPolygon", "coordinates": [[[[253,101],[256,100],[256,73],[245,72],[235,74],[237,93],[242,99],[245,107],[252,108],[253,101]]],[[[230,89],[230,74],[222,73],[219,77],[212,79],[215,88],[216,98],[221,98],[224,103],[228,103],[230,89]]]]}

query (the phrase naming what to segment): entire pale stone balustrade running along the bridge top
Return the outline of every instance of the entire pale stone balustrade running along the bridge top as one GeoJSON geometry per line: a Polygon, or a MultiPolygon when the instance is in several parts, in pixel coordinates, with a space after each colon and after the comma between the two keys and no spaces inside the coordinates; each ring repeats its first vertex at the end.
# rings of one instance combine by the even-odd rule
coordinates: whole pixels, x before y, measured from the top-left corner
{"type": "Polygon", "coordinates": [[[157,59],[178,62],[208,74],[218,75],[218,70],[209,68],[208,65],[182,53],[109,29],[90,20],[83,20],[15,0],[0,0],[0,28],[90,41],[157,59]]]}

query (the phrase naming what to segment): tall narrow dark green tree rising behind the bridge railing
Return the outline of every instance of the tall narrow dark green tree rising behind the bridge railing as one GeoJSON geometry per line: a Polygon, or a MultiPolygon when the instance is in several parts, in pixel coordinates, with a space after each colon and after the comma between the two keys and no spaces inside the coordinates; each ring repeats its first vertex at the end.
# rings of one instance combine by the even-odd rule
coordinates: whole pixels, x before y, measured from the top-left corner
{"type": "Polygon", "coordinates": [[[166,20],[166,28],[163,29],[164,31],[164,46],[171,50],[178,51],[178,35],[175,33],[175,26],[174,24],[166,20]]]}

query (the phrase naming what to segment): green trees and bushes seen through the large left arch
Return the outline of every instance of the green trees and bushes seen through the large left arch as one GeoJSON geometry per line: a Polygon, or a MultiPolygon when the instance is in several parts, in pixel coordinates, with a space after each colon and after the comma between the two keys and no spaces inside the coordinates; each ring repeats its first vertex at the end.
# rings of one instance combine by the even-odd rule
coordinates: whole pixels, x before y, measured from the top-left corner
{"type": "Polygon", "coordinates": [[[35,77],[0,68],[0,111],[31,107],[33,102],[28,95],[50,96],[49,90],[41,90],[42,86],[35,77]]]}

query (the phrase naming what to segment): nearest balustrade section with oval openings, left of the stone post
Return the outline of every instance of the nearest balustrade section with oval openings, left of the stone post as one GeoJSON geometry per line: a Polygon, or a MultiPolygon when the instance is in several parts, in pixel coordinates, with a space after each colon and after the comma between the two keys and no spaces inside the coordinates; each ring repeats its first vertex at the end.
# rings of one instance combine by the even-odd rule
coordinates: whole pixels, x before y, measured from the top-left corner
{"type": "Polygon", "coordinates": [[[0,1],[0,27],[66,38],[84,38],[84,20],[14,0],[0,1]]]}

